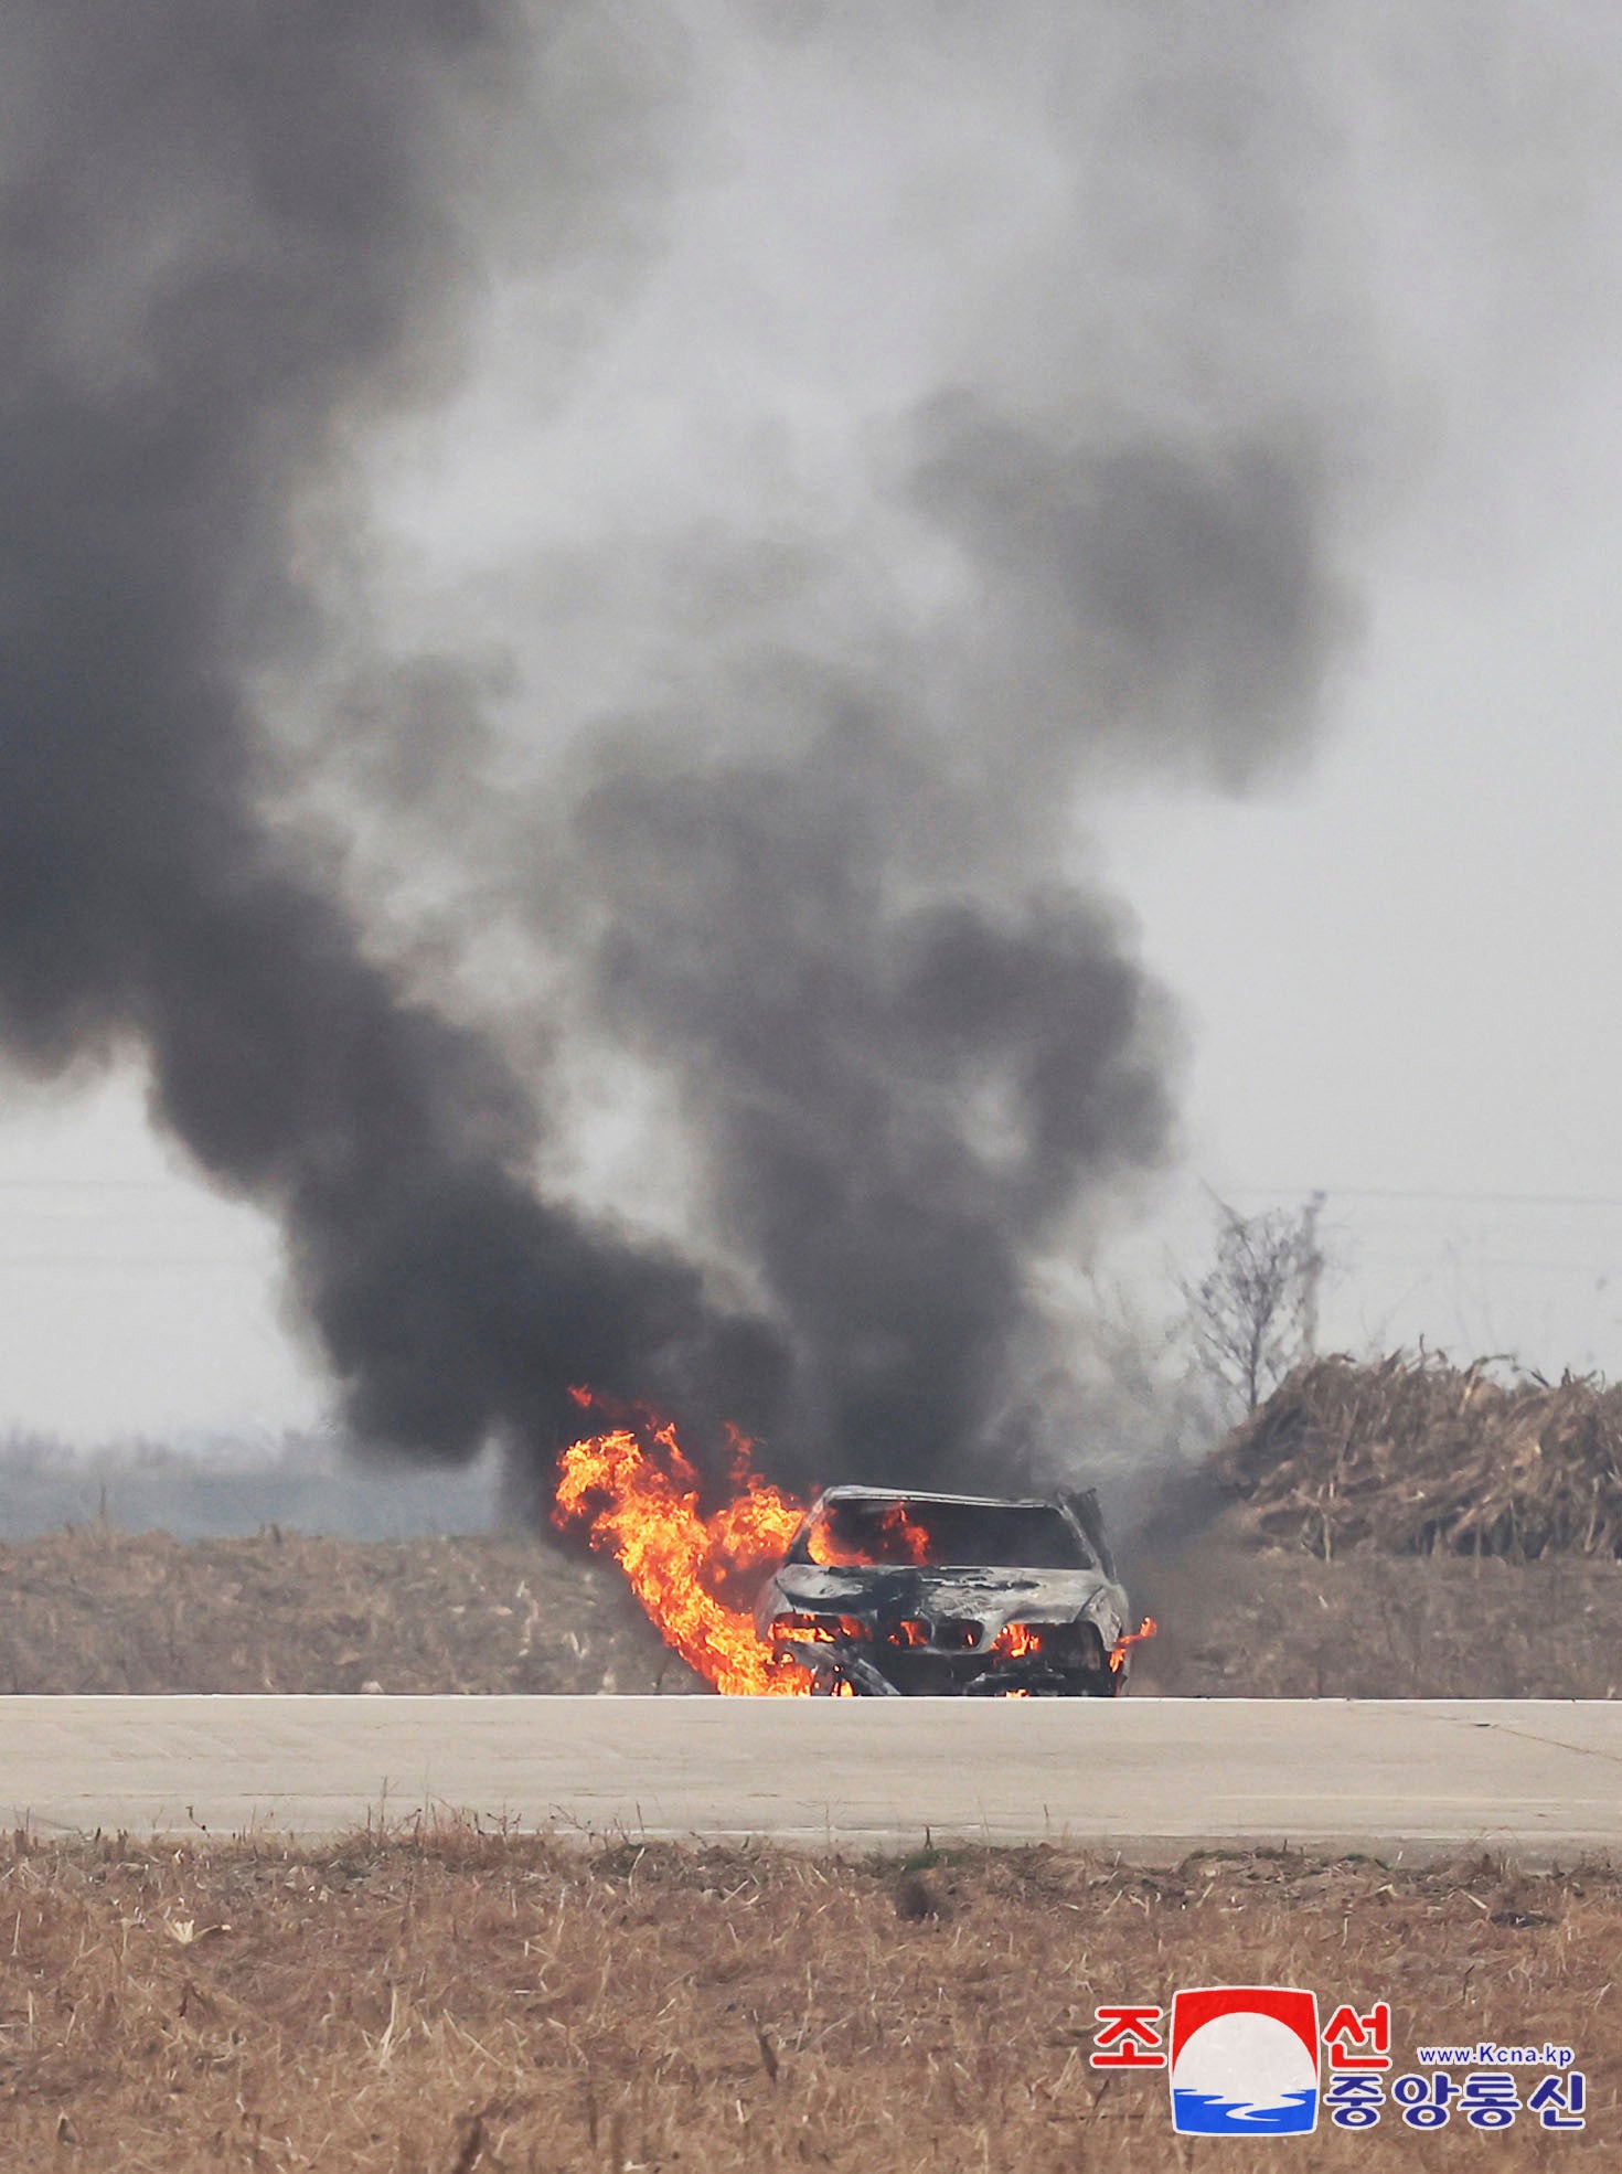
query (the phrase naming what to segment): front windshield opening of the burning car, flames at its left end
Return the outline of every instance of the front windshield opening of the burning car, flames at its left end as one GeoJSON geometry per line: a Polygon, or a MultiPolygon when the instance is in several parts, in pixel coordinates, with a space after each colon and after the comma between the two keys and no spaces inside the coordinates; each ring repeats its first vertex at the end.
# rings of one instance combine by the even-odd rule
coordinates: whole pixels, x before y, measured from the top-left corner
{"type": "Polygon", "coordinates": [[[794,1563],[922,1570],[1094,1570],[1087,1544],[1048,1502],[822,1498],[789,1550],[794,1563]]]}

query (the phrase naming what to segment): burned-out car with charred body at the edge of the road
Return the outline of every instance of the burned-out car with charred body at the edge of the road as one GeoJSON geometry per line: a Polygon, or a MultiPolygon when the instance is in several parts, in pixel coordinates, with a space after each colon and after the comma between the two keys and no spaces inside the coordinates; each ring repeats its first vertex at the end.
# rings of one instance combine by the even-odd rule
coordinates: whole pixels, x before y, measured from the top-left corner
{"type": "Polygon", "coordinates": [[[1126,1594],[1087,1491],[1048,1500],[828,1487],[754,1626],[820,1691],[1113,1698],[1126,1594]]]}

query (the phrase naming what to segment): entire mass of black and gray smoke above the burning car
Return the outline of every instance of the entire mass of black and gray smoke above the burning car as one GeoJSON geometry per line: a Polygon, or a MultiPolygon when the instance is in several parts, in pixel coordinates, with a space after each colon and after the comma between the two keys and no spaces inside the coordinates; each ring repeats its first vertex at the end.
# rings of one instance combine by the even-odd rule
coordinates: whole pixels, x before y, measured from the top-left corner
{"type": "Polygon", "coordinates": [[[1087,798],[1302,759],[1400,413],[1355,126],[1389,54],[1324,24],[15,0],[0,1033],[144,1054],[283,1217],[365,1437],[544,1470],[589,1380],[791,1478],[1061,1457],[1020,1430],[1037,1267],[1174,1152],[1178,1057],[1087,798]],[[365,448],[452,398],[485,246],[576,489],[620,383],[731,448],[487,583],[491,672],[378,654],[365,596],[365,448]],[[322,676],[304,783],[372,867],[265,730],[322,676]],[[528,1002],[391,963],[435,854],[450,950],[522,946],[528,1002]],[[539,1189],[544,1046],[672,1089],[681,1250],[539,1189]]]}

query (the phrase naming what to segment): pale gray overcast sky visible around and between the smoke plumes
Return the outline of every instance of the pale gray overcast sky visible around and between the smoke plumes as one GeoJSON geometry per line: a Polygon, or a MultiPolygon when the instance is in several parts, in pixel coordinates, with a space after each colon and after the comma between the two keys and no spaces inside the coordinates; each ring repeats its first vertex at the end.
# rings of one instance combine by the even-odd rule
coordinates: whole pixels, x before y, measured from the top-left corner
{"type": "MultiPolygon", "coordinates": [[[[626,548],[633,611],[600,600],[600,557],[578,559],[581,600],[572,552],[765,493],[822,539],[900,550],[863,496],[874,417],[915,396],[922,352],[957,343],[968,370],[1005,259],[1068,261],[1044,128],[1085,130],[1087,102],[1055,120],[1031,65],[976,85],[961,54],[907,65],[896,43],[868,78],[820,48],[837,13],[807,9],[822,28],[778,46],[741,33],[748,9],[689,0],[661,215],[644,233],[631,207],[620,270],[578,293],[509,259],[467,391],[376,457],[374,609],[507,659],[520,748],[635,678],[631,617],[648,654],[663,641],[663,561],[644,574],[626,548]]],[[[1339,383],[1352,311],[1344,398],[1368,402],[1372,448],[1339,546],[1357,624],[1320,715],[1237,794],[1122,770],[1076,822],[1076,872],[1124,902],[1185,1046],[1178,1152],[1137,1215],[1098,1220],[1089,1259],[1155,1315],[1168,1261],[1196,1272],[1209,1244],[1202,1187],[1239,1209],[1322,1189],[1326,1341],[1622,1370],[1622,50],[1598,7],[1550,9],[1529,39],[1487,9],[1485,52],[1474,11],[1420,17],[1411,46],[1348,39],[1313,70],[1342,124],[1322,233],[1346,222],[1357,254],[1355,278],[1324,276],[1318,337],[1339,383]],[[1483,76],[1457,102],[1455,61],[1483,76]]],[[[1044,307],[1085,337],[1085,296],[1013,283],[1015,350],[1044,307]]],[[[1298,370],[1311,348],[1289,337],[1298,370]]],[[[885,580],[924,596],[935,570],[885,580]]],[[[424,889],[431,917],[431,867],[424,889]]],[[[398,861],[385,894],[398,933],[398,861]]],[[[478,972],[487,989],[502,963],[478,972]]],[[[659,1224],[678,1209],[657,1104],[641,1115],[652,1146],[624,1107],[587,1122],[576,1180],[659,1224]]],[[[0,1217],[0,1426],[89,1441],[326,1409],[276,1226],[154,1135],[137,1054],[7,1089],[0,1217]]]]}

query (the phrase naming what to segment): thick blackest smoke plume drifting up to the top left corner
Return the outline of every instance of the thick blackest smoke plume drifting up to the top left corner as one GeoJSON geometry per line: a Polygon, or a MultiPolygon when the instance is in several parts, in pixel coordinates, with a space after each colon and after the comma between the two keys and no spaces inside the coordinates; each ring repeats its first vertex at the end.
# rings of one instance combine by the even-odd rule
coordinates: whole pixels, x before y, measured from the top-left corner
{"type": "Polygon", "coordinates": [[[152,1104],[285,1222],[367,1437],[552,1441],[565,1385],[770,1409],[776,1339],[531,1189],[487,1037],[367,957],[259,813],[254,674],[322,639],[298,511],[346,433],[441,391],[452,204],[522,61],[483,0],[24,0],[0,202],[0,1028],[135,1044],[152,1104]]]}

